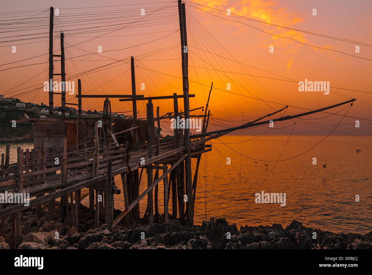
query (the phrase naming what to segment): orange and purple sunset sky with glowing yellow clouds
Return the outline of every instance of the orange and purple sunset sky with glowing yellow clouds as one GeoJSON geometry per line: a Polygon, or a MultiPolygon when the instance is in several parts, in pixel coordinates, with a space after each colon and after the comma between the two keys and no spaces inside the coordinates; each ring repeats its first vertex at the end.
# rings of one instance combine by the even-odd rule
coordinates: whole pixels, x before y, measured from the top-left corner
{"type": "MultiPolygon", "coordinates": [[[[134,56],[137,94],[145,97],[182,94],[177,1],[140,2],[143,4],[125,0],[2,1],[0,94],[48,104],[48,95],[42,87],[48,78],[51,6],[59,9],[54,25],[55,54],[60,54],[59,34],[63,30],[66,79],[76,82],[76,93],[80,78],[83,94],[131,94],[130,57],[134,56]],[[12,53],[13,45],[16,53],[12,53]],[[99,46],[102,53],[97,53],[99,46]],[[35,56],[39,57],[29,59],[35,56]],[[28,60],[13,63],[23,59],[28,60]],[[24,66],[29,64],[35,65],[24,66]],[[17,68],[8,69],[12,67],[17,68]]],[[[250,118],[279,110],[283,104],[292,106],[284,113],[289,115],[306,111],[301,108],[317,109],[356,98],[338,130],[358,135],[372,132],[371,1],[190,0],[185,3],[189,93],[196,95],[190,98],[190,109],[205,106],[213,82],[209,107],[214,120],[210,121],[209,130],[238,126],[250,118]],[[230,16],[227,9],[231,10],[230,16]],[[313,9],[316,16],[312,15],[313,9]],[[329,81],[330,94],[299,92],[298,82],[305,79],[329,81]],[[227,90],[227,83],[231,84],[231,90],[227,90]],[[356,119],[361,123],[357,132],[356,119]]],[[[54,73],[60,73],[59,61],[54,62],[54,73]]],[[[66,99],[77,103],[75,95],[67,94],[66,99]]],[[[60,102],[60,96],[55,95],[54,104],[60,102]]],[[[111,102],[114,112],[132,110],[130,102],[118,99],[111,102]]],[[[137,103],[142,118],[146,116],[145,103],[137,103]]],[[[171,100],[153,103],[155,110],[160,106],[160,114],[173,111],[171,100]]],[[[102,110],[102,105],[102,99],[83,99],[84,110],[102,110]]],[[[183,109],[182,99],[179,106],[183,109]]],[[[349,109],[346,107],[330,111],[339,115],[308,120],[311,125],[298,123],[296,130],[328,133],[346,114],[349,109]]],[[[307,118],[326,116],[329,114],[318,113],[307,118]]]]}

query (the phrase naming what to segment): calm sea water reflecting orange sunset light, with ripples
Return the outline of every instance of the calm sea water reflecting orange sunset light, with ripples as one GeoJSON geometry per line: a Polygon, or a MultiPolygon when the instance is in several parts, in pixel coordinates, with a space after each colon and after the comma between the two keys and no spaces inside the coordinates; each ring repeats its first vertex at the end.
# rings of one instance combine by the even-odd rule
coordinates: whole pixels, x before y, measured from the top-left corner
{"type": "MultiPolygon", "coordinates": [[[[273,223],[286,226],[297,219],[305,226],[333,232],[364,234],[372,231],[372,136],[331,135],[305,154],[302,153],[324,136],[292,135],[284,151],[287,135],[260,136],[244,142],[252,138],[254,136],[243,136],[242,144],[241,136],[212,140],[214,149],[203,155],[199,167],[196,224],[201,224],[205,218],[218,217],[226,218],[230,223],[236,222],[238,227],[273,223]],[[241,157],[221,141],[233,150],[259,160],[241,157]],[[362,151],[357,154],[357,149],[362,151]],[[280,159],[302,155],[276,163],[282,151],[280,159]],[[314,157],[317,165],[312,164],[314,157]],[[231,165],[227,165],[226,158],[231,158],[231,165]],[[267,167],[264,164],[268,164],[267,167]],[[327,164],[326,168],[323,164],[327,164]],[[259,193],[262,190],[286,193],[286,206],[255,203],[255,197],[251,195],[257,189],[259,193]],[[360,202],[355,202],[356,195],[359,195],[360,202]]],[[[17,146],[25,149],[31,148],[32,144],[12,144],[11,154],[16,152],[17,146]]],[[[0,153],[4,151],[5,145],[0,144],[0,153]]],[[[16,156],[12,155],[12,159],[15,161],[16,156]]],[[[196,159],[192,162],[194,172],[196,159]]],[[[122,189],[120,176],[115,180],[122,189]]],[[[144,171],[140,192],[146,186],[144,171]]],[[[159,209],[163,213],[162,182],[159,195],[159,209]]],[[[84,204],[87,202],[87,198],[83,200],[84,204]]],[[[144,197],[140,202],[141,215],[145,213],[146,203],[144,197]]],[[[124,209],[122,193],[115,195],[115,208],[124,209]]]]}

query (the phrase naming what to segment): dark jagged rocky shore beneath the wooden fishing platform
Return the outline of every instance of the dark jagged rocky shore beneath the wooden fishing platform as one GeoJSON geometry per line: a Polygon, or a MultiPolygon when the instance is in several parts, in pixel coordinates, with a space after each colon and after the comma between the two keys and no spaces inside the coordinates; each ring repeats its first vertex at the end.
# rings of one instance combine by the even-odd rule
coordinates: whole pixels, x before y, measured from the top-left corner
{"type": "MultiPolygon", "coordinates": [[[[57,203],[57,202],[56,202],[57,203]]],[[[47,214],[47,205],[43,205],[47,214]]],[[[114,218],[121,212],[114,211],[114,218]]],[[[226,219],[210,219],[202,225],[182,226],[179,221],[166,224],[125,228],[122,224],[112,232],[106,224],[94,228],[94,214],[82,206],[79,230],[71,227],[71,219],[48,221],[47,215],[36,216],[35,209],[22,212],[23,240],[18,249],[372,249],[372,231],[365,234],[332,233],[305,227],[292,221],[281,224],[237,228],[226,219]],[[313,238],[314,232],[316,238],[313,238]],[[59,238],[57,238],[59,237],[59,238]]],[[[9,249],[11,225],[6,223],[0,236],[0,249],[9,249]]]]}

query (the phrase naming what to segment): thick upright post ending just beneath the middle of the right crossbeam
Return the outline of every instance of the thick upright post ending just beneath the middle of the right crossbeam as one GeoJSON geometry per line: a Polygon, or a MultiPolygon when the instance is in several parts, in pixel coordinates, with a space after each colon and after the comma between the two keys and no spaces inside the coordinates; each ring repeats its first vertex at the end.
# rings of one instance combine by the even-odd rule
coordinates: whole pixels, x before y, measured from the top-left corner
{"type": "MultiPolygon", "coordinates": [[[[147,122],[148,122],[148,158],[151,158],[152,155],[152,145],[153,145],[153,132],[154,132],[154,124],[153,124],[153,103],[151,99],[148,100],[147,105],[147,122]]],[[[146,168],[147,173],[147,187],[153,184],[153,166],[152,164],[147,165],[146,168]]],[[[148,206],[148,224],[153,224],[153,191],[147,194],[147,206],[148,206]]]]}

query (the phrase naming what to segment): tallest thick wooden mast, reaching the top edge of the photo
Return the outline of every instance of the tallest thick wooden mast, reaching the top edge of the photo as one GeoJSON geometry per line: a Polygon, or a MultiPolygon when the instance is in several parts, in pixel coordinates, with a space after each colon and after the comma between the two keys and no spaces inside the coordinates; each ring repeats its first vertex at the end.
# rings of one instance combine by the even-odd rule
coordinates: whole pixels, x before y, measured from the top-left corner
{"type": "Polygon", "coordinates": [[[187,223],[191,226],[194,223],[193,214],[193,197],[192,197],[192,181],[191,181],[191,148],[190,148],[190,124],[189,121],[189,72],[188,72],[188,52],[187,52],[187,32],[186,32],[186,12],[185,4],[178,0],[178,12],[180,21],[181,34],[181,54],[182,54],[182,79],[183,79],[183,105],[185,108],[185,146],[187,157],[185,159],[185,180],[186,180],[186,195],[187,195],[187,223]]]}

